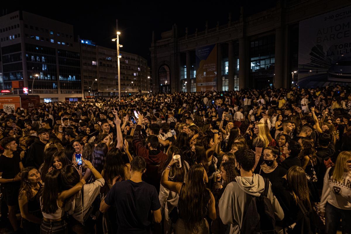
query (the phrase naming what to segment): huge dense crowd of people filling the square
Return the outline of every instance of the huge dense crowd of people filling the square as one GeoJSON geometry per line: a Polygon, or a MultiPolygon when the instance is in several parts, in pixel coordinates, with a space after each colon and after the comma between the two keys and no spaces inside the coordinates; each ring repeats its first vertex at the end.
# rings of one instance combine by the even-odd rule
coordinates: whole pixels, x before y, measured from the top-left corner
{"type": "Polygon", "coordinates": [[[27,234],[351,233],[350,91],[0,109],[1,223],[27,234]]]}

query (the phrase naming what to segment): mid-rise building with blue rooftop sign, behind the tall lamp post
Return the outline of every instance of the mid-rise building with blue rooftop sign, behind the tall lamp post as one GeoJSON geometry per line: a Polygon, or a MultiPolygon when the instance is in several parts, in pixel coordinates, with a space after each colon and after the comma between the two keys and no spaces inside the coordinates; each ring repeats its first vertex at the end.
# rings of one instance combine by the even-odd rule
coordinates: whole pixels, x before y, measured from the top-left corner
{"type": "MultiPolygon", "coordinates": [[[[86,98],[118,95],[117,50],[79,39],[83,93],[86,98]]],[[[143,57],[120,51],[121,95],[150,91],[150,68],[143,57]]]]}

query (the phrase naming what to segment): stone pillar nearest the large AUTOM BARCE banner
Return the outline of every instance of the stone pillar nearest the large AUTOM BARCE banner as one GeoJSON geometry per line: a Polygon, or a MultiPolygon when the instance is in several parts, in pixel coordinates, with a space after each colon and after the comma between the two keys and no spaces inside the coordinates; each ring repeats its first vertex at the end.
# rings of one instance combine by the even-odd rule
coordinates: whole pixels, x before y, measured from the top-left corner
{"type": "Polygon", "coordinates": [[[274,87],[281,88],[283,86],[283,29],[276,29],[276,46],[275,46],[275,64],[274,64],[274,87]]]}

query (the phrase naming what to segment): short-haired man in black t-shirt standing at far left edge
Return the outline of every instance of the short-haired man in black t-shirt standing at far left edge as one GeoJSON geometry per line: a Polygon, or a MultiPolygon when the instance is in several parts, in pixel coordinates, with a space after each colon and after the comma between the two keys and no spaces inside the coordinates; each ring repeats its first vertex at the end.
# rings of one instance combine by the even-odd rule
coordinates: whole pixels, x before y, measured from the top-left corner
{"type": "Polygon", "coordinates": [[[1,192],[8,207],[8,219],[16,232],[18,229],[16,210],[21,180],[19,173],[24,167],[20,155],[14,153],[17,149],[15,138],[9,136],[2,139],[1,146],[5,149],[4,153],[0,155],[1,192]]]}

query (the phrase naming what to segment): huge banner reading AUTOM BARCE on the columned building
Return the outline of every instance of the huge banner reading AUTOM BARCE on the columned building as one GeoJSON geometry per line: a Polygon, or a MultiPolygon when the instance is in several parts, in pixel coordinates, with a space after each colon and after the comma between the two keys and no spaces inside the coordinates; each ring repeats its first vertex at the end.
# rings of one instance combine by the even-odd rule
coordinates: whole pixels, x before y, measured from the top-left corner
{"type": "Polygon", "coordinates": [[[351,7],[299,23],[298,86],[351,82],[351,7]]]}

